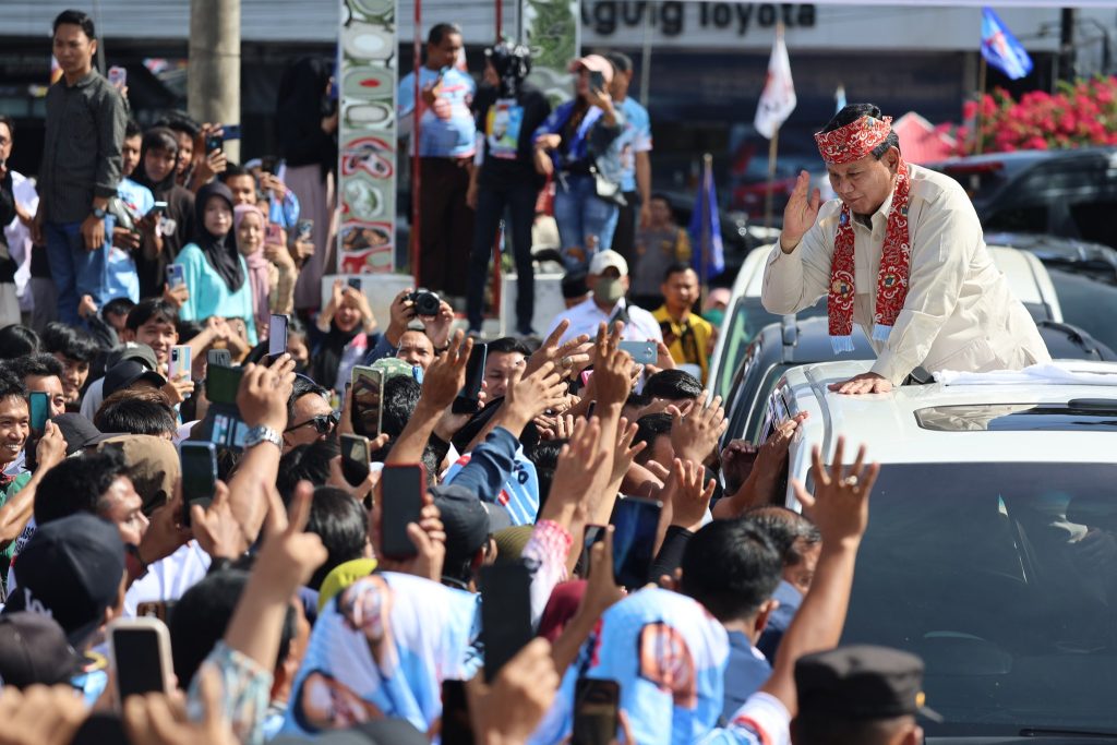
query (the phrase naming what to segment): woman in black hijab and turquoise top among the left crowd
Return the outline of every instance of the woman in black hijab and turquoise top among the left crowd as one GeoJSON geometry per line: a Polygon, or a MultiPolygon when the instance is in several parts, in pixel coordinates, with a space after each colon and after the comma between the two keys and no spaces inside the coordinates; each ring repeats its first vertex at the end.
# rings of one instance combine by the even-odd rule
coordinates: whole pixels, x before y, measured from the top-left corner
{"type": "Polygon", "coordinates": [[[232,192],[216,181],[198,190],[194,237],[174,262],[183,268],[190,297],[179,309],[182,321],[225,318],[249,343],[256,344],[252,289],[248,264],[237,250],[232,229],[232,192]]]}

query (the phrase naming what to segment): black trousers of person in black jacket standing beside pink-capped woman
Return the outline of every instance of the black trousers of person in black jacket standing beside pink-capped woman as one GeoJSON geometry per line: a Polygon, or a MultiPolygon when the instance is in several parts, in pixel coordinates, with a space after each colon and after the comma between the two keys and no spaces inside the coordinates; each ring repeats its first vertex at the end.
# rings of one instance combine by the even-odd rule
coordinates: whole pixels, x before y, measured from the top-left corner
{"type": "Polygon", "coordinates": [[[535,220],[534,184],[514,184],[491,189],[477,189],[477,212],[474,222],[474,247],[469,254],[469,292],[466,311],[469,327],[480,329],[485,308],[485,285],[493,241],[505,208],[512,213],[512,248],[516,258],[516,331],[532,331],[535,315],[535,270],[532,267],[532,223],[535,220]]]}

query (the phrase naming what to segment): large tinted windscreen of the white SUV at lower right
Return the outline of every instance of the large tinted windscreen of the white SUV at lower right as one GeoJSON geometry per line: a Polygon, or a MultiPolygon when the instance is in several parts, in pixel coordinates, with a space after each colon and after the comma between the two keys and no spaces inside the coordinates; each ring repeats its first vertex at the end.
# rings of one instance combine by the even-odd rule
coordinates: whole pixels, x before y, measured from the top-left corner
{"type": "MultiPolygon", "coordinates": [[[[975,437],[995,437],[976,434],[975,437]]],[[[927,736],[1113,732],[1115,464],[887,464],[842,643],[927,665],[927,736]]]]}

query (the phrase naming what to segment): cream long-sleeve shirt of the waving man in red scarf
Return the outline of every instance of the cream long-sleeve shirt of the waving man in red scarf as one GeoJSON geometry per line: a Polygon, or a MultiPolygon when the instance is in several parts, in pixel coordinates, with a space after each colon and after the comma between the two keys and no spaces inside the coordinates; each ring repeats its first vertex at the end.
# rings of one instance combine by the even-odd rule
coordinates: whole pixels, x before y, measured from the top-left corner
{"type": "MultiPolygon", "coordinates": [[[[853,321],[872,328],[877,275],[888,226],[889,194],[866,225],[853,220],[853,321]]],[[[799,246],[780,245],[764,269],[761,299],[771,313],[796,313],[830,288],[841,201],[827,202],[799,246]]],[[[1020,370],[1050,362],[1047,346],[1023,304],[993,264],[970,198],[949,176],[911,166],[908,201],[911,245],[907,299],[877,353],[872,372],[899,384],[917,366],[928,372],[1020,370]]]]}

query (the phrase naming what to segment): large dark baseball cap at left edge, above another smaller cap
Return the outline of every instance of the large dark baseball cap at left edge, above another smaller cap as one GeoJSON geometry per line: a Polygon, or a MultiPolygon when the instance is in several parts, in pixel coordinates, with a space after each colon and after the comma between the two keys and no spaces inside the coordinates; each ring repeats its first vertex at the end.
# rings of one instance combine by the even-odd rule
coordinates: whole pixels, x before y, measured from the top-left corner
{"type": "Polygon", "coordinates": [[[116,603],[124,576],[124,543],[116,526],[88,513],[40,525],[16,562],[19,588],[4,613],[49,615],[70,644],[82,642],[116,603]]]}

